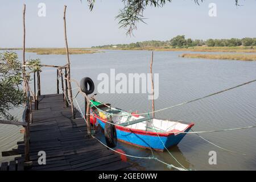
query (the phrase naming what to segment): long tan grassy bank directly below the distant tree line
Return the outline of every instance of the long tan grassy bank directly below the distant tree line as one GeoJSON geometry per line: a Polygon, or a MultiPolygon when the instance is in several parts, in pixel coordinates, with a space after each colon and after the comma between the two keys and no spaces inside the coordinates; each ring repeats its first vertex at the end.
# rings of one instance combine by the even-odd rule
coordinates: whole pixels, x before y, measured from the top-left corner
{"type": "Polygon", "coordinates": [[[238,52],[238,53],[256,53],[256,46],[237,46],[237,47],[207,47],[196,46],[188,48],[173,48],[173,47],[104,47],[93,49],[114,49],[114,50],[141,50],[141,51],[191,51],[191,52],[238,52]]]}

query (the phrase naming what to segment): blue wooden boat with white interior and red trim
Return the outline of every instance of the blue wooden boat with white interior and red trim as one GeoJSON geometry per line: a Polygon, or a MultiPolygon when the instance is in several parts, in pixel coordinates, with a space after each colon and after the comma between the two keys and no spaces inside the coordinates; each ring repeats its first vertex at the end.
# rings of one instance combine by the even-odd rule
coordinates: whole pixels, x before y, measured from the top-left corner
{"type": "Polygon", "coordinates": [[[195,125],[194,123],[148,118],[136,113],[130,114],[109,104],[92,100],[90,123],[99,124],[104,129],[110,115],[119,141],[158,151],[176,146],[185,136],[185,133],[180,132],[187,132],[195,125]]]}

